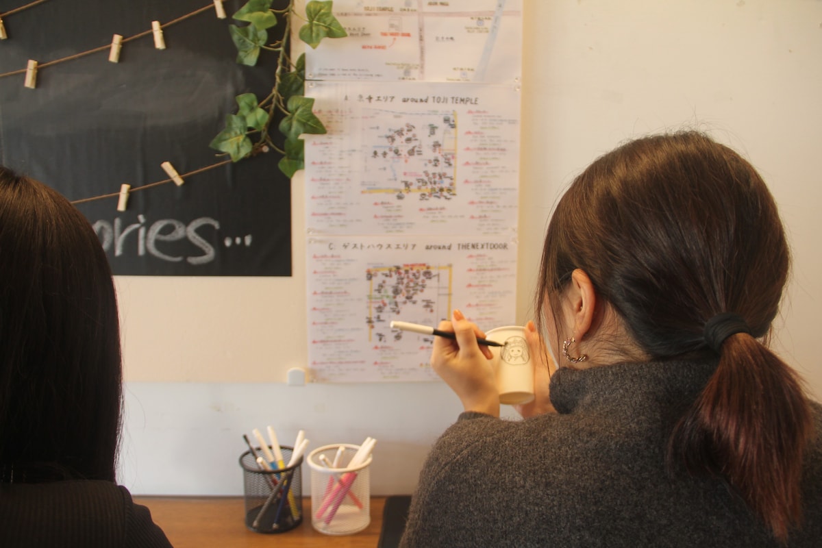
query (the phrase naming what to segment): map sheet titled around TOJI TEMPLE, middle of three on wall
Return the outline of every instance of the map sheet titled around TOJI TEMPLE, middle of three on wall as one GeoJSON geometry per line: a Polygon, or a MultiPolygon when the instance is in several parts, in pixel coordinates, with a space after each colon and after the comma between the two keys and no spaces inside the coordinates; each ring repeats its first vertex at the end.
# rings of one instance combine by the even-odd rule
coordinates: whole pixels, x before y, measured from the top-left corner
{"type": "Polygon", "coordinates": [[[328,134],[305,136],[307,227],[333,234],[510,234],[514,85],[313,82],[328,134]]]}

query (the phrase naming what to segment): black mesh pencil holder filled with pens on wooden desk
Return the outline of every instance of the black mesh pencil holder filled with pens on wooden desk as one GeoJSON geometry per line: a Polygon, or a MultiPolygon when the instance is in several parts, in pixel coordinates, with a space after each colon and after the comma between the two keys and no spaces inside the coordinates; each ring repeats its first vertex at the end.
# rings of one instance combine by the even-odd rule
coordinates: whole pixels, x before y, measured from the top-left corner
{"type": "MultiPolygon", "coordinates": [[[[280,445],[283,461],[289,462],[293,448],[280,445]]],[[[257,454],[261,451],[257,449],[257,454]]],[[[288,467],[263,470],[251,451],[240,455],[245,493],[246,527],[254,532],[290,531],[302,523],[302,457],[288,467]]]]}

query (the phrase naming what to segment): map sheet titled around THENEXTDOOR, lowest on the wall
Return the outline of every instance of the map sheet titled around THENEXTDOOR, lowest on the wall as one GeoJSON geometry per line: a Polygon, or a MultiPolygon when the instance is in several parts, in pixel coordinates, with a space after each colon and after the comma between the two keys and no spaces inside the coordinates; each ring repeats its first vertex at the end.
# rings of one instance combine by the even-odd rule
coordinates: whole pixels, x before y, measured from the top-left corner
{"type": "MultiPolygon", "coordinates": [[[[432,337],[455,307],[488,330],[514,316],[511,237],[310,237],[309,368],[318,382],[434,380],[432,337]]],[[[510,323],[510,320],[508,320],[510,323]]]]}

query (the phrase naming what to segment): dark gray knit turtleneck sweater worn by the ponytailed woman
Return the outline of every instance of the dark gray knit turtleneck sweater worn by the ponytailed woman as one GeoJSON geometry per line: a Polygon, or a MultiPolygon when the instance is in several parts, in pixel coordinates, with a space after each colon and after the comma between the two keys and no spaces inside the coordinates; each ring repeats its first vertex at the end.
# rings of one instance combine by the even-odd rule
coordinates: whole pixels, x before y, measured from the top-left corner
{"type": "MultiPolygon", "coordinates": [[[[466,412],[427,458],[400,546],[779,546],[722,481],[665,469],[674,421],[711,363],[563,368],[559,414],[466,412]]],[[[822,546],[822,407],[806,459],[804,521],[822,546]]]]}

